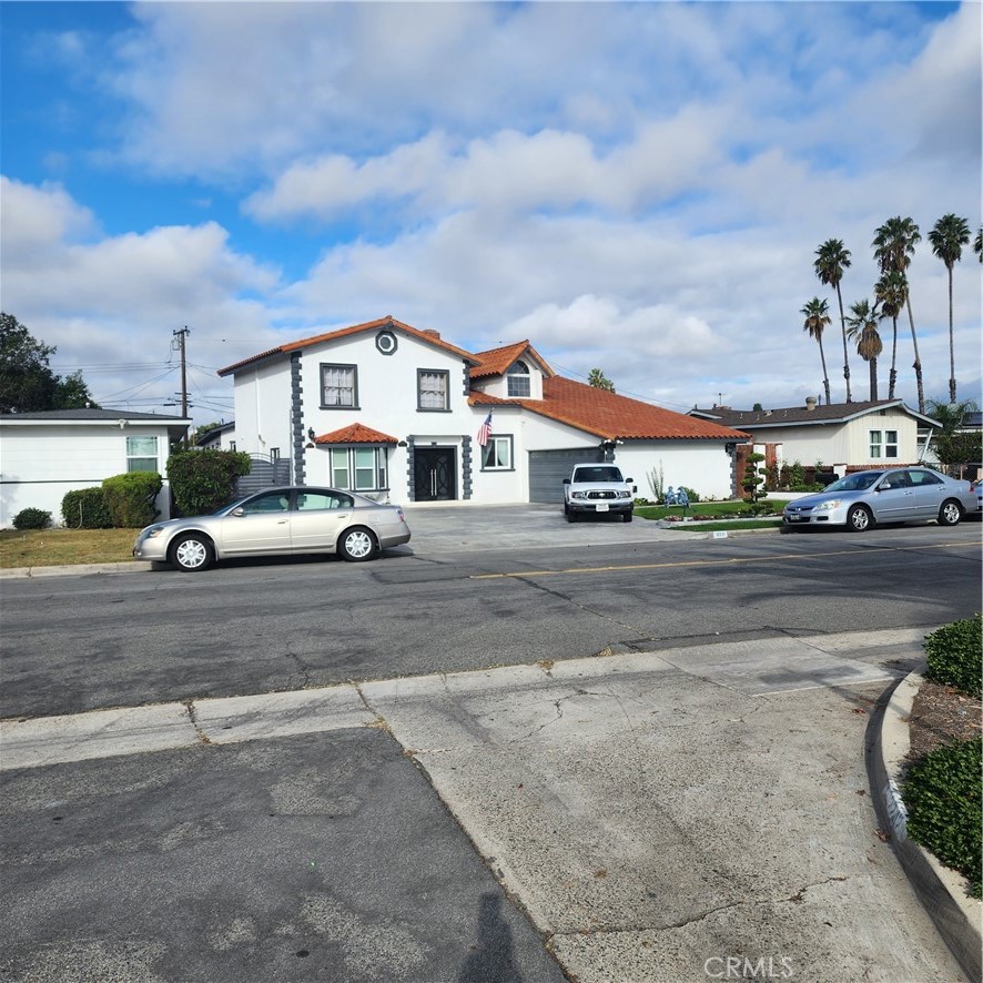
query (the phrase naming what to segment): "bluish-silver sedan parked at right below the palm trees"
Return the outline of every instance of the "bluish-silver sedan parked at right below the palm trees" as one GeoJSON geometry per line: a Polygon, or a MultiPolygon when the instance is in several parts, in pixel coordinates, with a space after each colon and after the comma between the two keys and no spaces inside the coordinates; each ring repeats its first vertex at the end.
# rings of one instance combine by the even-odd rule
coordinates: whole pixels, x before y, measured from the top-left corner
{"type": "Polygon", "coordinates": [[[847,475],[817,495],[790,501],[782,519],[786,529],[843,526],[862,533],[878,523],[935,519],[940,526],[954,526],[975,509],[969,482],[928,467],[901,467],[847,475]]]}

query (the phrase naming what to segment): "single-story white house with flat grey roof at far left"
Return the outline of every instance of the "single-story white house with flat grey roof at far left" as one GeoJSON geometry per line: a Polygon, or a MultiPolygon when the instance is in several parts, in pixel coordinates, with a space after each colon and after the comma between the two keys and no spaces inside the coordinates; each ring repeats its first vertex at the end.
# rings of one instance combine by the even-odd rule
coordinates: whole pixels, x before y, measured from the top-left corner
{"type": "Polygon", "coordinates": [[[126,472],[158,472],[158,496],[170,517],[165,464],[171,443],[188,433],[191,420],[129,409],[54,409],[0,415],[0,528],[9,528],[24,508],[51,513],[61,525],[68,492],[93,488],[126,472]]]}

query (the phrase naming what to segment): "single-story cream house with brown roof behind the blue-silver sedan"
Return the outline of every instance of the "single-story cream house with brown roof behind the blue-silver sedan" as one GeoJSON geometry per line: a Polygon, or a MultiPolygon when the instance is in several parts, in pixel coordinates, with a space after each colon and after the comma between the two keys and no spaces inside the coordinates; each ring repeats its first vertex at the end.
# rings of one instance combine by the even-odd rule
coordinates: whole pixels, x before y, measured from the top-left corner
{"type": "Polygon", "coordinates": [[[773,445],[779,467],[822,463],[839,475],[848,468],[918,464],[925,458],[928,435],[942,426],[901,399],[820,405],[810,397],[804,406],[782,409],[695,407],[690,416],[744,430],[756,445],[773,445]]]}

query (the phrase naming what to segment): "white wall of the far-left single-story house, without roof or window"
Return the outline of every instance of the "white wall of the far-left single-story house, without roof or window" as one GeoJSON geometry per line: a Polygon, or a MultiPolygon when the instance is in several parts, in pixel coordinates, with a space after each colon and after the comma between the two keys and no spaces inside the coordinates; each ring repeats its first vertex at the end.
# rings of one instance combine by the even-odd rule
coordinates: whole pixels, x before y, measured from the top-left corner
{"type": "MultiPolygon", "coordinates": [[[[0,426],[0,528],[10,528],[24,508],[51,513],[62,524],[61,503],[69,492],[99,487],[126,472],[126,437],[158,438],[158,472],[165,475],[168,430],[154,425],[58,424],[26,420],[0,426]]],[[[162,518],[170,518],[170,492],[158,496],[162,518]]]]}

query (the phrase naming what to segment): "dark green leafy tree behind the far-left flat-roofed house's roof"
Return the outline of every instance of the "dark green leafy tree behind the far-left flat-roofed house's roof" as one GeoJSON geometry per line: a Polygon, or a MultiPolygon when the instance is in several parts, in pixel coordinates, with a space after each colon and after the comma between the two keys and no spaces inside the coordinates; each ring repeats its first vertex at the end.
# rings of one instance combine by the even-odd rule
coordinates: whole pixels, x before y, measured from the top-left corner
{"type": "Polygon", "coordinates": [[[51,371],[48,359],[55,351],[12,314],[0,313],[0,413],[97,407],[81,372],[62,378],[51,371]]]}

